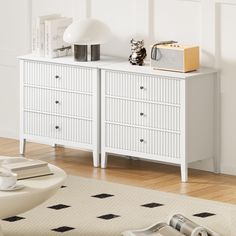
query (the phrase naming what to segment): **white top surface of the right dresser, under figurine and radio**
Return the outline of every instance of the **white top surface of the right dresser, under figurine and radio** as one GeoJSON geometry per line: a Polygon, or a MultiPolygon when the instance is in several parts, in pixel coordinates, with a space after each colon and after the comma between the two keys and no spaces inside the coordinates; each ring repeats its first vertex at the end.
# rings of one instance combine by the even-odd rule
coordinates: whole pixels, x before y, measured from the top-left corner
{"type": "Polygon", "coordinates": [[[165,71],[165,70],[156,70],[150,66],[149,61],[145,61],[145,64],[143,66],[131,65],[128,61],[123,61],[123,62],[111,63],[109,65],[104,65],[104,66],[101,66],[100,68],[106,69],[106,70],[125,71],[125,72],[131,72],[131,73],[139,73],[139,74],[141,73],[141,74],[147,74],[147,75],[159,75],[159,76],[167,76],[167,77],[176,77],[176,78],[182,78],[182,79],[217,73],[216,69],[207,68],[207,67],[201,67],[197,71],[187,72],[187,73],[165,71]]]}

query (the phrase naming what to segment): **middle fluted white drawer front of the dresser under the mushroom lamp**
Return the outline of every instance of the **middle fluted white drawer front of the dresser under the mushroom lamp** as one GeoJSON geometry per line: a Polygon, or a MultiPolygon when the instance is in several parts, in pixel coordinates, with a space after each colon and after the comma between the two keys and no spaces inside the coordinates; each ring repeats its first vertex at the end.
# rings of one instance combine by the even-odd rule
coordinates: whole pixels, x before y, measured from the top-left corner
{"type": "Polygon", "coordinates": [[[24,88],[24,109],[92,118],[92,95],[34,87],[24,88]]]}

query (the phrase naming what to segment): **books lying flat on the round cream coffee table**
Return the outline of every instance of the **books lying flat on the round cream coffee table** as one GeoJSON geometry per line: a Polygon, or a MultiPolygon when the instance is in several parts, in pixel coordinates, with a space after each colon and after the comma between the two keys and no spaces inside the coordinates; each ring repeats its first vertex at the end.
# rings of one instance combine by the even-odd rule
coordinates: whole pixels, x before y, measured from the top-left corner
{"type": "Polygon", "coordinates": [[[2,163],[1,167],[7,171],[16,173],[18,180],[52,174],[47,162],[22,159],[23,158],[19,158],[19,161],[2,163]]]}

